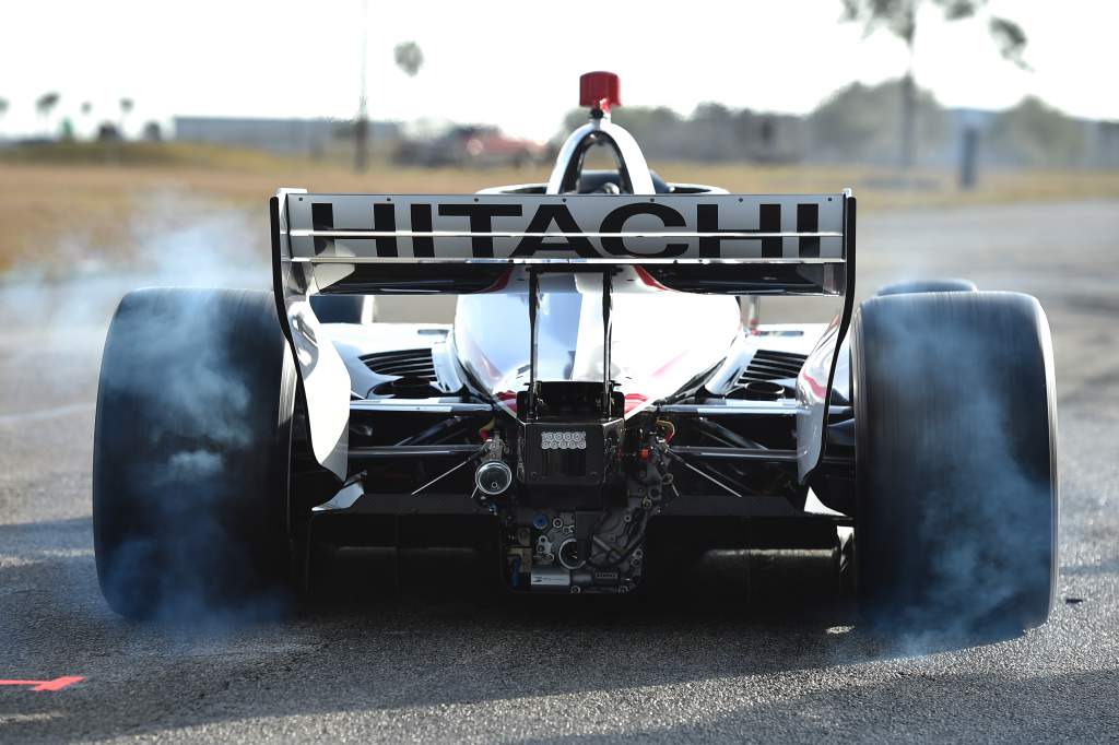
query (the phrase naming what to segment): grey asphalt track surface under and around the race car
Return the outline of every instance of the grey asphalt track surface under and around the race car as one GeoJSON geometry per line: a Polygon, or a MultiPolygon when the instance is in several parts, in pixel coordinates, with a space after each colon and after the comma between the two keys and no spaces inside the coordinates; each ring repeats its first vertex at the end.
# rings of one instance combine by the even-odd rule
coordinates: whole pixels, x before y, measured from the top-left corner
{"type": "Polygon", "coordinates": [[[356,557],[316,606],[124,621],[96,586],[90,464],[103,323],[139,281],[20,283],[0,293],[0,679],[82,680],[0,685],[0,742],[1119,739],[1119,204],[867,215],[859,258],[861,295],[967,275],[1045,307],[1062,525],[1044,628],[877,635],[803,554],[599,603],[495,598],[461,555],[405,557],[394,591],[356,557]]]}

